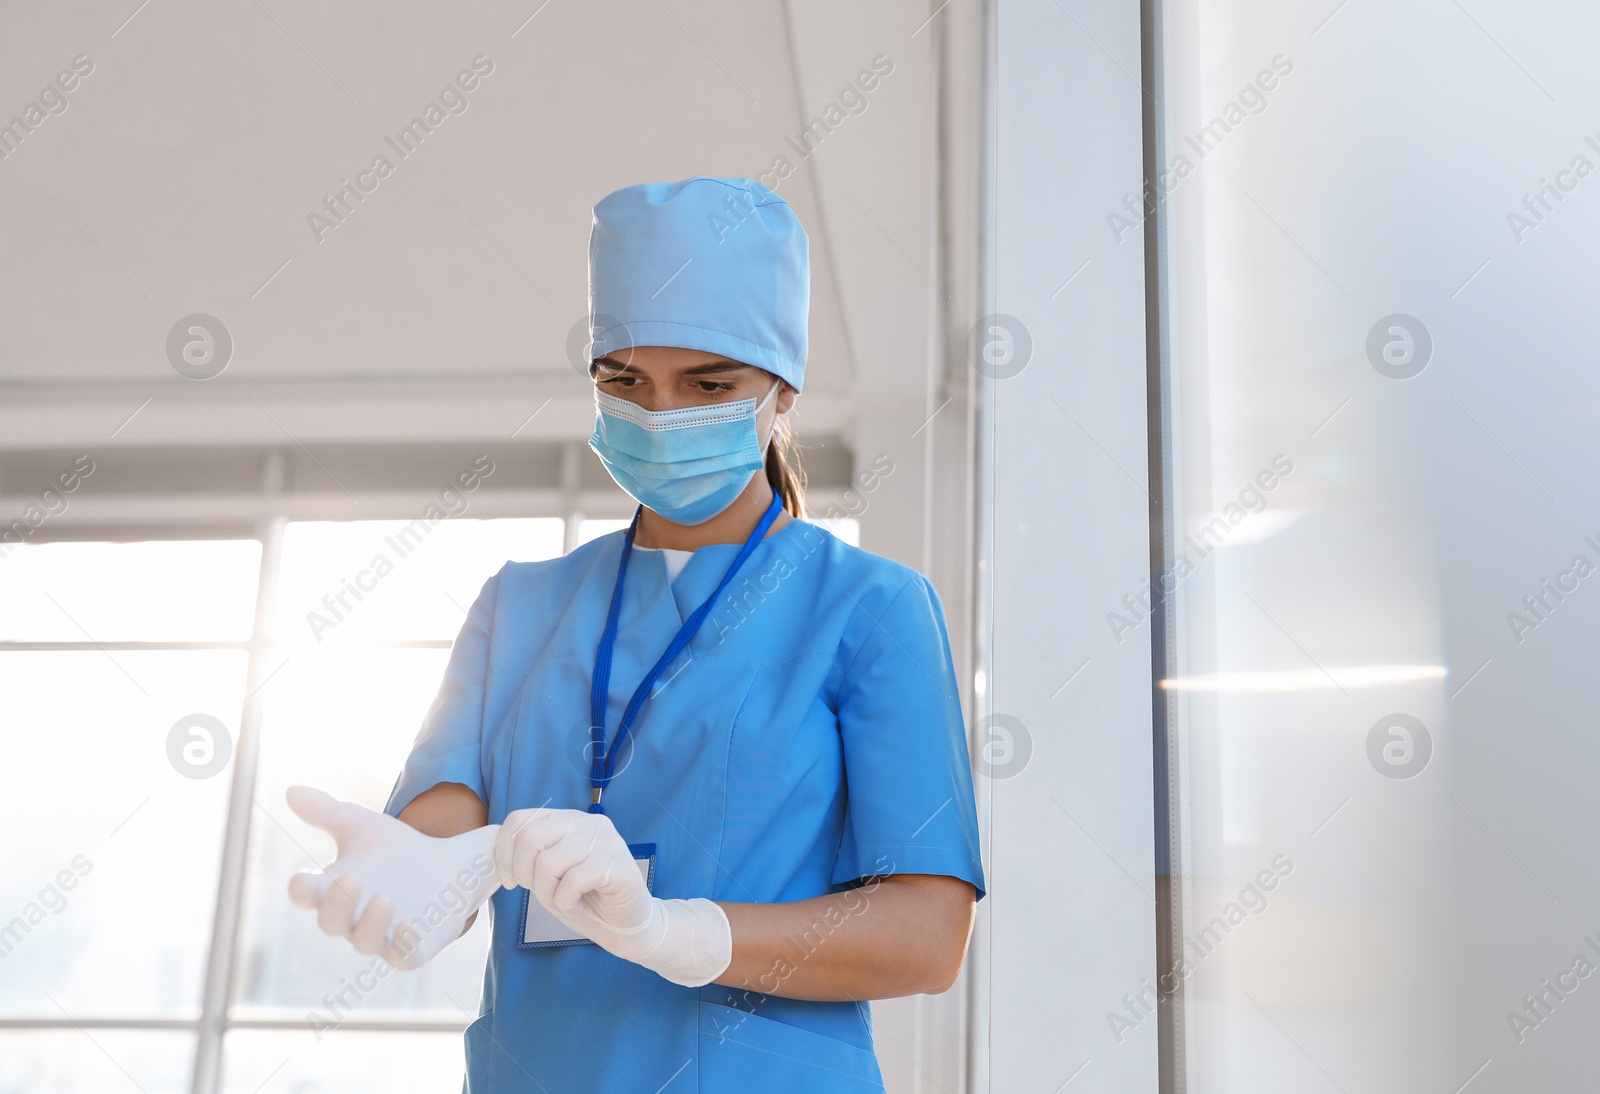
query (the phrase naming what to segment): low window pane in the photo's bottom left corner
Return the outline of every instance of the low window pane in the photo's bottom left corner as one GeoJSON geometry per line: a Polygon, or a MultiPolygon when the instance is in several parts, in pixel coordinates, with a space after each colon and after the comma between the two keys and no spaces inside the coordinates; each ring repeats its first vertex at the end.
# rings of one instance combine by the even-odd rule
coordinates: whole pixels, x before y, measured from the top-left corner
{"type": "Polygon", "coordinates": [[[187,1094],[194,1051],[181,1030],[0,1028],[0,1092],[187,1094]]]}

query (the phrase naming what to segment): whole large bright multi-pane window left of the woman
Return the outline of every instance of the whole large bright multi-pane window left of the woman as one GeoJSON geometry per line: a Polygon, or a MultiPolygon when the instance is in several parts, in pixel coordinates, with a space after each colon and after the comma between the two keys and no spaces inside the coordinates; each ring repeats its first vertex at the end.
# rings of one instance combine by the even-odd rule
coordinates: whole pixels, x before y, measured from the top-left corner
{"type": "Polygon", "coordinates": [[[382,808],[483,581],[560,555],[565,525],[299,521],[277,550],[269,533],[6,557],[0,822],[27,838],[0,876],[0,1089],[189,1091],[197,1060],[245,1094],[459,1081],[486,921],[378,976],[288,904],[333,841],[283,790],[382,808]]]}

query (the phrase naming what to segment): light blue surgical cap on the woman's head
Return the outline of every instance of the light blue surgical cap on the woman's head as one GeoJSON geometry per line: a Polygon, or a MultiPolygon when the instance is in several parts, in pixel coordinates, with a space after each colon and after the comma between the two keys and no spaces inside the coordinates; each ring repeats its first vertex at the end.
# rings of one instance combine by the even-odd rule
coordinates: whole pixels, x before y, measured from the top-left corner
{"type": "Polygon", "coordinates": [[[677,345],[805,381],[811,258],[789,203],[752,179],[642,182],[595,205],[592,355],[677,345]]]}

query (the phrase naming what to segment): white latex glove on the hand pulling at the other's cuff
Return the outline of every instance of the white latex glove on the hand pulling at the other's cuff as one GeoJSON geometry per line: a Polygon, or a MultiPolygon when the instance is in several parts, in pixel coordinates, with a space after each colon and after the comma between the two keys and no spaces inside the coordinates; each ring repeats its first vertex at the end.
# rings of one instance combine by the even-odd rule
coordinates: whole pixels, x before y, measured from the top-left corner
{"type": "Polygon", "coordinates": [[[726,913],[704,897],[650,896],[634,854],[603,813],[512,813],[494,841],[494,868],[506,888],[530,889],[573,931],[674,984],[710,984],[733,961],[726,913]]]}

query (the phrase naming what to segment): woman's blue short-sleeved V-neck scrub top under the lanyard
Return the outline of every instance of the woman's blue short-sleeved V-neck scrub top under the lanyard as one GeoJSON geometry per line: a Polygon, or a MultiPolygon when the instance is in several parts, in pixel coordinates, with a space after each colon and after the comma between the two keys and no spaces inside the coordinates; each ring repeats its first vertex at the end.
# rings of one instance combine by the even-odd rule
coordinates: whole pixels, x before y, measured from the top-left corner
{"type": "MultiPolygon", "coordinates": [[[[514,809],[589,805],[589,681],[622,533],[563,558],[506,563],[478,593],[387,813],[461,782],[514,809]]],[[[736,544],[701,547],[675,582],[637,552],[606,737],[736,544]]],[[[926,577],[790,521],[757,545],[661,675],[616,761],[606,813],[654,843],[659,897],[802,900],[888,873],[941,873],[982,896],[962,702],[926,577]]],[[[877,1091],[867,1003],[787,1000],[786,976],[869,889],[819,916],[760,982],[688,988],[597,945],[518,948],[523,889],[493,902],[467,1091],[877,1091]]]]}

